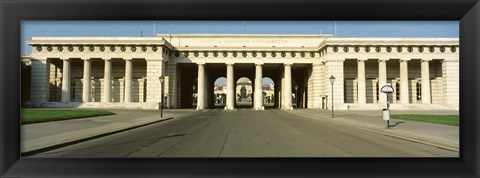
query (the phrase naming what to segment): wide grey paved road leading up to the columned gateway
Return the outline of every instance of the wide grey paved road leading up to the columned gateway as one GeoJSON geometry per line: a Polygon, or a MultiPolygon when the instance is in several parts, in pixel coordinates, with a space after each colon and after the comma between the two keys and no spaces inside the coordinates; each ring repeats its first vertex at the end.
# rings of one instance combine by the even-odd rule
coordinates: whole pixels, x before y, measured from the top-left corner
{"type": "Polygon", "coordinates": [[[209,110],[32,157],[458,157],[279,110],[209,110]]]}

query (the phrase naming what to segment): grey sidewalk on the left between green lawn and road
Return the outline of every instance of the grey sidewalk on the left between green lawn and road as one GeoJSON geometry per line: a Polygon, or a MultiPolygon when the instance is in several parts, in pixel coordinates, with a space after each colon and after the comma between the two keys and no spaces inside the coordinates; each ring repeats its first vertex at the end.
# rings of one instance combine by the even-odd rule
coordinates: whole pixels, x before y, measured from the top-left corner
{"type": "Polygon", "coordinates": [[[172,119],[164,110],[109,110],[116,115],[27,124],[21,126],[21,152],[29,155],[172,119]]]}

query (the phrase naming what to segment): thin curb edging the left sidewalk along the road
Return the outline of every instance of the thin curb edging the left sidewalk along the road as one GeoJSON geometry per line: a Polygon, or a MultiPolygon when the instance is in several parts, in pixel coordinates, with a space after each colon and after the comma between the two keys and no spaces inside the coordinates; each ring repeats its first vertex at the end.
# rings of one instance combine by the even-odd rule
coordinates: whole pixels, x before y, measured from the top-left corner
{"type": "MultiPolygon", "coordinates": [[[[152,124],[155,124],[155,123],[159,123],[159,122],[163,122],[163,121],[167,121],[167,120],[171,120],[171,119],[173,119],[173,117],[166,117],[166,118],[162,118],[162,119],[158,119],[158,120],[154,120],[154,121],[140,123],[138,125],[130,125],[130,126],[127,126],[127,127],[111,129],[111,130],[108,130],[108,131],[105,131],[105,132],[95,133],[95,134],[91,134],[91,135],[87,135],[87,136],[79,136],[77,138],[71,138],[71,139],[63,141],[63,142],[51,143],[51,144],[47,144],[45,146],[38,146],[36,148],[30,148],[28,150],[22,151],[21,156],[23,156],[23,157],[31,156],[31,155],[34,155],[34,154],[37,154],[37,153],[50,151],[50,150],[53,150],[53,149],[57,149],[57,148],[61,148],[61,147],[65,147],[65,146],[69,146],[69,145],[73,145],[73,144],[77,144],[77,143],[81,143],[81,142],[85,142],[85,141],[89,141],[89,140],[93,140],[93,139],[97,139],[97,138],[101,138],[101,137],[108,136],[108,135],[113,135],[113,134],[116,134],[116,133],[120,133],[120,132],[124,132],[124,131],[128,131],[128,130],[152,125],[152,124]]],[[[92,129],[95,129],[95,128],[92,128],[92,129]]],[[[79,130],[79,131],[81,131],[81,130],[79,130]]],[[[69,133],[65,133],[65,134],[69,134],[69,133]]],[[[63,134],[63,135],[65,135],[65,134],[63,134]]],[[[53,136],[60,137],[61,135],[62,134],[57,134],[57,135],[53,135],[53,136]]]]}

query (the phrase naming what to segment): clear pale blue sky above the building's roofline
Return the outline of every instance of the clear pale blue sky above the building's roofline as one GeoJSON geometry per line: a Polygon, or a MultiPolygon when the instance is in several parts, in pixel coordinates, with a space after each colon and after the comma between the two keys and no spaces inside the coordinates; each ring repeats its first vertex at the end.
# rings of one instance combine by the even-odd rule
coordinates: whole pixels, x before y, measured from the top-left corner
{"type": "Polygon", "coordinates": [[[21,53],[33,36],[134,37],[171,34],[335,34],[338,37],[459,37],[458,21],[22,21],[21,53]],[[245,25],[244,25],[245,22],[245,25]],[[155,24],[155,28],[154,28],[155,24]],[[155,32],[154,32],[155,29],[155,32]]]}

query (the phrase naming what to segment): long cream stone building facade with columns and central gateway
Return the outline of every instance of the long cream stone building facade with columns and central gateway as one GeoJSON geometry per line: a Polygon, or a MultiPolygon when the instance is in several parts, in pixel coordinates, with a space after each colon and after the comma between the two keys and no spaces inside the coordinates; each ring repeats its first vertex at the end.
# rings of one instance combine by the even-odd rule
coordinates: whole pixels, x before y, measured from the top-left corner
{"type": "MultiPolygon", "coordinates": [[[[227,78],[227,91],[234,91],[234,81],[246,77],[259,110],[262,78],[269,77],[281,109],[329,109],[332,102],[336,109],[381,109],[387,96],[379,90],[387,84],[394,88],[392,109],[459,108],[458,38],[159,34],[27,43],[30,107],[191,108],[196,96],[202,110],[215,103],[217,78],[227,78]]],[[[235,109],[235,97],[227,92],[225,109],[235,109]]]]}

